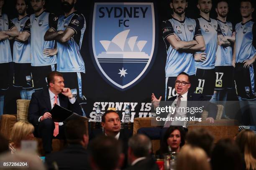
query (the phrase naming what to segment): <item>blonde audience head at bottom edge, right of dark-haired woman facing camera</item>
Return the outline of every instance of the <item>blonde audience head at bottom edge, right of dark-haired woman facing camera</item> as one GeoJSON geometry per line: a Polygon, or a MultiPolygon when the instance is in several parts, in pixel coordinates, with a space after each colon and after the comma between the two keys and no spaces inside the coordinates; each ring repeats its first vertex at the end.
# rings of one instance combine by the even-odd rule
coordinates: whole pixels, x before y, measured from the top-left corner
{"type": "Polygon", "coordinates": [[[204,150],[184,145],[178,155],[176,170],[211,170],[204,150]]]}

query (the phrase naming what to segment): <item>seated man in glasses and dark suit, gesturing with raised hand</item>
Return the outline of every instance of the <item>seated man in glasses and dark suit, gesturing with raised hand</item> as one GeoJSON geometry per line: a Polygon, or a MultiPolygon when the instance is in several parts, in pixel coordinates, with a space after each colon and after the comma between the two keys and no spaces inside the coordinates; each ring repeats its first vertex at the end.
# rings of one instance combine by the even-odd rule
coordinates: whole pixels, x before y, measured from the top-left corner
{"type": "MultiPolygon", "coordinates": [[[[191,86],[190,80],[189,80],[189,75],[185,72],[179,73],[179,75],[176,78],[175,83],[175,91],[177,92],[177,96],[171,97],[168,99],[168,101],[173,101],[174,105],[179,107],[179,105],[185,104],[186,107],[192,108],[192,107],[203,107],[203,110],[208,111],[208,117],[206,120],[208,120],[210,123],[214,123],[214,118],[217,115],[218,112],[218,107],[214,103],[211,103],[205,99],[205,97],[202,94],[196,94],[189,92],[189,88],[191,86]]],[[[154,108],[159,107],[159,103],[161,101],[161,96],[159,99],[152,93],[151,95],[151,101],[154,105],[154,108]]],[[[162,107],[162,106],[161,106],[162,107]]],[[[179,112],[178,112],[179,113],[179,112]]],[[[184,113],[185,117],[188,117],[190,120],[190,117],[201,117],[202,112],[197,112],[197,113],[184,113]]],[[[163,113],[161,117],[167,117],[168,113],[163,113]]],[[[172,117],[177,116],[177,112],[174,112],[172,117]]],[[[179,115],[178,115],[179,116],[179,115]]],[[[150,137],[151,139],[160,139],[162,134],[164,134],[166,128],[168,128],[170,125],[174,125],[177,121],[166,121],[164,123],[164,128],[141,128],[138,130],[138,133],[143,133],[150,137]]],[[[183,122],[182,122],[183,123],[183,122]]],[[[187,123],[184,122],[182,125],[185,130],[187,131],[187,123]]]]}

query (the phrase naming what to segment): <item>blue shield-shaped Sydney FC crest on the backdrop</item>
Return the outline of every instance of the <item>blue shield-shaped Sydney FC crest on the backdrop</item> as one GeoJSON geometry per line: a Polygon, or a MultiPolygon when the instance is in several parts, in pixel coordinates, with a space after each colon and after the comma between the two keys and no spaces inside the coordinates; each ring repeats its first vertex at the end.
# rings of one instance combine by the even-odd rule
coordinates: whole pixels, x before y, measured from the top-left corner
{"type": "Polygon", "coordinates": [[[110,85],[126,90],[138,83],[152,65],[154,44],[153,3],[95,3],[92,60],[110,85]]]}

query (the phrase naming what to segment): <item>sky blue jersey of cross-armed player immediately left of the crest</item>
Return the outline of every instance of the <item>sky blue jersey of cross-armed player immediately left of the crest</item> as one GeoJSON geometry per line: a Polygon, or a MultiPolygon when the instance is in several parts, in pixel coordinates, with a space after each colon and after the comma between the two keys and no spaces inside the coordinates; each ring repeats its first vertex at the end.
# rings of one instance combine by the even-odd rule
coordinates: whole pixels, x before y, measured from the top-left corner
{"type": "Polygon", "coordinates": [[[61,15],[56,30],[74,30],[74,36],[66,43],[57,42],[57,71],[59,72],[85,72],[84,60],[80,53],[86,22],[84,15],[74,12],[65,17],[61,15]]]}

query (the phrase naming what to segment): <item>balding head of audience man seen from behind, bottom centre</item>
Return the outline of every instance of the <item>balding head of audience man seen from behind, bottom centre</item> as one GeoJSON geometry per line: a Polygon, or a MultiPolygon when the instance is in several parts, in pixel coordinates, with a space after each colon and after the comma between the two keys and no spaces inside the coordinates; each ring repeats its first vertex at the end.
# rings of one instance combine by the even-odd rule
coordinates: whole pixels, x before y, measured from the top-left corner
{"type": "Polygon", "coordinates": [[[129,163],[132,163],[137,158],[148,157],[151,153],[151,146],[151,140],[146,135],[133,135],[128,141],[129,163]]]}

